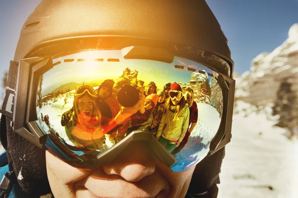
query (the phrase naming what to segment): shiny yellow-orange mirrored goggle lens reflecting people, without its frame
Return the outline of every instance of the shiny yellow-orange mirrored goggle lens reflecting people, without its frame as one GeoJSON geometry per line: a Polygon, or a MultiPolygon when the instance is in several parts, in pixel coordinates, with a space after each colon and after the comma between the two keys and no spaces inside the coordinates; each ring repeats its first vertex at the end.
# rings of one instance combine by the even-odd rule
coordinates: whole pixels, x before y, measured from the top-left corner
{"type": "Polygon", "coordinates": [[[208,67],[176,56],[171,63],[125,59],[121,50],[81,51],[45,67],[37,89],[36,124],[48,135],[50,151],[71,165],[102,164],[136,130],[149,131],[158,143],[148,141],[149,146],[176,160],[173,171],[187,170],[208,154],[223,110],[219,74],[208,67]],[[149,88],[150,82],[156,89],[149,88]],[[164,100],[158,100],[156,93],[175,82],[182,93],[165,92],[164,100]],[[143,111],[110,125],[120,108],[134,108],[142,95],[151,105],[143,103],[143,111]]]}

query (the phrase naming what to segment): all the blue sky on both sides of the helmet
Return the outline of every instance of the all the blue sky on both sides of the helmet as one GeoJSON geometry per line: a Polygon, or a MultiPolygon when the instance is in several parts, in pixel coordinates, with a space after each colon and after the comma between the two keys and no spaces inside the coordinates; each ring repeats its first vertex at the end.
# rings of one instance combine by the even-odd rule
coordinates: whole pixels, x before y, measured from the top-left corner
{"type": "MultiPolygon", "coordinates": [[[[288,38],[298,23],[298,0],[206,0],[218,18],[235,62],[243,73],[251,60],[263,51],[272,51],[288,38]]],[[[13,59],[19,33],[27,16],[40,0],[1,0],[0,76],[13,59]]]]}

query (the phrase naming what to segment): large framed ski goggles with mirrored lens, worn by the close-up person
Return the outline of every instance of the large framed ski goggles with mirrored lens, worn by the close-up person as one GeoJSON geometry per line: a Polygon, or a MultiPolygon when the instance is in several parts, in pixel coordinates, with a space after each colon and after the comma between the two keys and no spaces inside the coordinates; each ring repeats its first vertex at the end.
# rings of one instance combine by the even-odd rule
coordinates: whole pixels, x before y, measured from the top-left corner
{"type": "MultiPolygon", "coordinates": [[[[165,50],[148,54],[154,50],[87,49],[11,62],[9,72],[18,75],[8,79],[1,112],[13,117],[16,133],[77,168],[107,164],[141,141],[173,171],[187,170],[230,141],[235,81],[165,50]],[[114,82],[111,93],[113,87],[119,91],[96,95],[107,79],[114,82]],[[156,92],[177,82],[182,92],[169,92],[164,103],[142,114],[134,108],[144,105],[149,82],[156,92]],[[194,93],[192,106],[183,97],[187,89],[194,93]],[[116,122],[123,109],[135,112],[116,122]]],[[[147,98],[157,103],[154,94],[147,98]]]]}

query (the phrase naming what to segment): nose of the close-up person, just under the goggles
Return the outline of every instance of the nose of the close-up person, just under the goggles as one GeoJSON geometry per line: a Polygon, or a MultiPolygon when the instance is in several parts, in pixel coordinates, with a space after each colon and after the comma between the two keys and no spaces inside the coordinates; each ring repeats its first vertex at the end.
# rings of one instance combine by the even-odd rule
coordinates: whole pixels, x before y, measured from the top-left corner
{"type": "Polygon", "coordinates": [[[108,175],[119,175],[129,182],[137,182],[155,171],[150,150],[142,142],[132,143],[111,162],[103,166],[108,175]]]}

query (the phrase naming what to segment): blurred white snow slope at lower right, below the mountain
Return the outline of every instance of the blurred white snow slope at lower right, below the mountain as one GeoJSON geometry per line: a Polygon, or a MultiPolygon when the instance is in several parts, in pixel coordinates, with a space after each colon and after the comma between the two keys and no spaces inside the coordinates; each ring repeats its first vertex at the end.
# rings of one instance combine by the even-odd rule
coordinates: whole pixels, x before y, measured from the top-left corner
{"type": "MultiPolygon", "coordinates": [[[[239,109],[250,106],[238,105],[239,109]]],[[[246,117],[243,112],[234,114],[219,198],[298,197],[298,141],[288,140],[284,129],[274,127],[265,110],[246,117]]]]}

